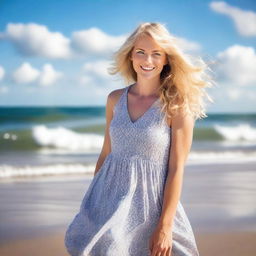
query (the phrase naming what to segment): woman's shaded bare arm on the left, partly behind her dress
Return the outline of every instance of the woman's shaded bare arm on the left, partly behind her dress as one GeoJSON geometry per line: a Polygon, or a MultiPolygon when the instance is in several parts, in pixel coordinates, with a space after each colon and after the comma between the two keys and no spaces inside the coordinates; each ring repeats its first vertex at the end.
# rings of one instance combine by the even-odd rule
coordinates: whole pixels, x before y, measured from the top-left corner
{"type": "Polygon", "coordinates": [[[113,92],[111,92],[107,97],[107,103],[106,103],[106,126],[105,126],[105,137],[104,142],[102,146],[101,153],[99,155],[98,161],[96,163],[94,176],[100,169],[101,165],[103,164],[106,156],[111,152],[111,142],[110,142],[110,136],[109,136],[109,124],[110,121],[113,118],[113,92]]]}

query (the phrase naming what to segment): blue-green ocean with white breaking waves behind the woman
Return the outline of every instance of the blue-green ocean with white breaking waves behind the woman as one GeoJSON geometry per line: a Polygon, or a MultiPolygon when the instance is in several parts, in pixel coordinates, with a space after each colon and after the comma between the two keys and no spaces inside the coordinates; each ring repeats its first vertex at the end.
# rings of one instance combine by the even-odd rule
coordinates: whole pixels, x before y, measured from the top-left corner
{"type": "MultiPolygon", "coordinates": [[[[0,107],[0,181],[92,175],[105,107],[0,107]]],[[[255,162],[256,113],[197,120],[187,164],[255,162]]]]}

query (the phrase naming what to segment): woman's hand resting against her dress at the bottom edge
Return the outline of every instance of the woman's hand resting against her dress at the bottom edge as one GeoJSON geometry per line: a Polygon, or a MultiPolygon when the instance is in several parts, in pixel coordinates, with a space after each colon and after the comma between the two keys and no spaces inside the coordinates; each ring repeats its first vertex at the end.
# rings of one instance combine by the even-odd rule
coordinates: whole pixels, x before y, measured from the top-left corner
{"type": "Polygon", "coordinates": [[[149,239],[150,256],[171,256],[172,232],[170,228],[156,227],[149,239]]]}

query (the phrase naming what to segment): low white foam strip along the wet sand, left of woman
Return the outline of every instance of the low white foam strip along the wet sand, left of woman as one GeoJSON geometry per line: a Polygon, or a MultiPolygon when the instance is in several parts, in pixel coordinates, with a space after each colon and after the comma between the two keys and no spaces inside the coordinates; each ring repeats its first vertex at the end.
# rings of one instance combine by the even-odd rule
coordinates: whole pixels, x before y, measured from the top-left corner
{"type": "Polygon", "coordinates": [[[93,174],[95,165],[55,164],[47,166],[0,166],[0,179],[61,174],[93,174]]]}

